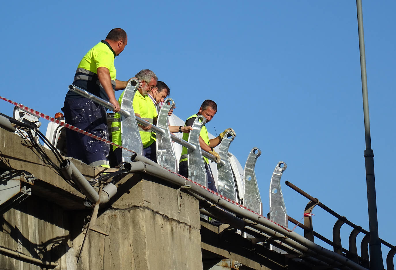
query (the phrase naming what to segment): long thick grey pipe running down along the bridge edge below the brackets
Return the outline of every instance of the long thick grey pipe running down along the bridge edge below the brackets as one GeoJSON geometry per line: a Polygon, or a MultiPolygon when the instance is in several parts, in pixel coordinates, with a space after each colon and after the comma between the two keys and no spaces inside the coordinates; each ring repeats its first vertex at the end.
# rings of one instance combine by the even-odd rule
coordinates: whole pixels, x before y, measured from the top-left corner
{"type": "MultiPolygon", "coordinates": [[[[171,183],[174,183],[179,186],[186,185],[186,180],[181,177],[177,176],[176,174],[173,174],[169,172],[168,170],[162,168],[156,168],[150,164],[147,164],[145,168],[145,172],[147,174],[150,174],[155,177],[159,177],[161,179],[166,179],[170,181],[171,183]]],[[[230,211],[232,213],[235,213],[241,217],[244,217],[246,221],[250,221],[251,225],[248,226],[260,226],[260,228],[263,229],[263,232],[270,236],[274,237],[284,237],[287,236],[287,238],[284,239],[284,242],[291,246],[291,247],[296,247],[296,249],[299,249],[300,251],[303,251],[304,253],[308,253],[308,255],[315,255],[315,253],[318,253],[322,255],[324,258],[327,259],[329,262],[338,262],[339,264],[343,266],[347,266],[351,269],[356,269],[356,270],[367,270],[367,268],[364,268],[353,261],[348,260],[347,258],[343,257],[342,255],[339,255],[333,251],[330,251],[328,249],[324,249],[320,245],[317,245],[308,239],[304,238],[303,236],[295,233],[295,232],[290,232],[289,230],[286,230],[286,228],[280,227],[276,223],[273,223],[269,219],[266,219],[264,217],[261,217],[260,215],[253,213],[249,210],[246,210],[244,208],[241,208],[239,206],[236,206],[235,204],[232,204],[231,202],[228,202],[227,200],[224,200],[217,196],[214,193],[211,193],[210,191],[207,191],[205,189],[202,189],[198,185],[191,185],[190,191],[192,193],[196,193],[199,196],[202,196],[209,202],[213,204],[217,204],[224,210],[230,211]],[[258,223],[257,225],[253,225],[255,223],[258,223]]]]}

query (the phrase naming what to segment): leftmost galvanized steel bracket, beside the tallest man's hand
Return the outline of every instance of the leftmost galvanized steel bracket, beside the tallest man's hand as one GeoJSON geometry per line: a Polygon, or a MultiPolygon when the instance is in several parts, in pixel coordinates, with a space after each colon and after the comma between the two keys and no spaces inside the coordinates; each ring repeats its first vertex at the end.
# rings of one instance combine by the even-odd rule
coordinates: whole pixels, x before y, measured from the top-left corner
{"type": "MultiPolygon", "coordinates": [[[[130,79],[125,88],[124,95],[121,100],[121,108],[131,113],[130,117],[123,117],[121,115],[121,142],[122,146],[136,153],[143,155],[143,143],[140,138],[139,127],[137,126],[135,113],[133,112],[132,102],[137,89],[139,88],[139,81],[130,79]]],[[[131,152],[122,149],[122,161],[131,161],[131,152]]]]}

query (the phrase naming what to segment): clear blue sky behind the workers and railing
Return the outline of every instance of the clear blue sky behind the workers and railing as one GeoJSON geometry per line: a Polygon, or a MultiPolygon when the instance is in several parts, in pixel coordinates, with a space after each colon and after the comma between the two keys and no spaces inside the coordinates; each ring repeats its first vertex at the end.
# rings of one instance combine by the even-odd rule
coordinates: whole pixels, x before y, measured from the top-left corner
{"type": "MultiPolygon", "coordinates": [[[[391,244],[395,9],[395,1],[363,1],[379,236],[391,244]]],[[[291,217],[301,219],[308,201],[285,180],[368,230],[355,1],[7,2],[0,14],[0,95],[54,115],[82,56],[110,29],[124,28],[117,79],[153,70],[182,119],[215,100],[209,132],[234,128],[230,151],[242,165],[251,148],[262,151],[256,176],[265,211],[272,172],[283,160],[291,217]]],[[[13,106],[1,104],[12,115],[13,106]]],[[[335,219],[319,208],[313,213],[314,229],[331,239],[335,219]]],[[[350,229],[341,231],[347,247],[350,229]]]]}

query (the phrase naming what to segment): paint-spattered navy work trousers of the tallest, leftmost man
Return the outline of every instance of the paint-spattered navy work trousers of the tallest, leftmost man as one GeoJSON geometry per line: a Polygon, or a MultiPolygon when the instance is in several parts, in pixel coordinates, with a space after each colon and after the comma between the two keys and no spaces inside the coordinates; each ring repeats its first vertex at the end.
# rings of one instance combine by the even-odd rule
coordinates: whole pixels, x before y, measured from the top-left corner
{"type": "MultiPolygon", "coordinates": [[[[66,123],[109,140],[107,129],[106,108],[88,98],[65,100],[62,111],[66,123]]],[[[67,155],[91,165],[109,165],[110,147],[74,130],[66,129],[67,155]]]]}

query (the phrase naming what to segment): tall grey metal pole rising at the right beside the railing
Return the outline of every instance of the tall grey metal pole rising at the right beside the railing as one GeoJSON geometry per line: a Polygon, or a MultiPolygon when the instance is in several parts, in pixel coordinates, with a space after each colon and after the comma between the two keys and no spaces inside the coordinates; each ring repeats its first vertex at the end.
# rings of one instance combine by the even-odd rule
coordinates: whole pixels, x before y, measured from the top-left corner
{"type": "Polygon", "coordinates": [[[366,51],[364,48],[363,11],[362,0],[356,0],[356,10],[358,15],[359,50],[360,50],[360,71],[362,76],[363,114],[364,114],[364,134],[366,138],[366,150],[364,159],[366,165],[366,185],[367,185],[367,207],[370,228],[370,269],[382,270],[384,263],[382,259],[381,241],[378,235],[377,198],[375,194],[374,176],[374,152],[371,150],[369,102],[367,94],[367,74],[366,74],[366,51]]]}

